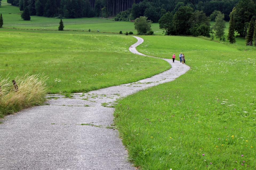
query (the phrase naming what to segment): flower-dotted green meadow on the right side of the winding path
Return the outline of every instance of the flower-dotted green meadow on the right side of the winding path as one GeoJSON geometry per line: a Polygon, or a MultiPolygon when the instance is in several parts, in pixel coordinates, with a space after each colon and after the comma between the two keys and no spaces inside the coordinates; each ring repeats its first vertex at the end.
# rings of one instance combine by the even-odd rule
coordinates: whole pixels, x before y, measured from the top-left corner
{"type": "Polygon", "coordinates": [[[256,51],[194,37],[141,37],[139,52],[183,52],[191,69],[116,107],[131,161],[140,169],[256,169],[256,51]]]}

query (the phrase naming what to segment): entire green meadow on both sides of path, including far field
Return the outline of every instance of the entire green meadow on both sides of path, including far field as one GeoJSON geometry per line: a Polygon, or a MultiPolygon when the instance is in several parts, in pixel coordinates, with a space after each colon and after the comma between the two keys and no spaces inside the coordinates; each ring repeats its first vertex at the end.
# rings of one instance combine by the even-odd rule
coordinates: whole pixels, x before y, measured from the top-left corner
{"type": "MultiPolygon", "coordinates": [[[[130,95],[116,107],[114,122],[129,159],[139,169],[256,169],[256,48],[245,46],[244,39],[228,44],[141,36],[137,50],[159,57],[151,58],[130,53],[137,39],[116,34],[137,33],[132,22],[63,19],[69,31],[54,31],[59,19],[23,21],[19,8],[6,0],[0,13],[1,78],[44,74],[48,93],[134,82],[170,68],[159,58],[184,53],[191,68],[186,74],[130,95]]],[[[228,22],[226,27],[225,36],[228,22]]],[[[162,35],[158,23],[152,29],[162,35]]]]}

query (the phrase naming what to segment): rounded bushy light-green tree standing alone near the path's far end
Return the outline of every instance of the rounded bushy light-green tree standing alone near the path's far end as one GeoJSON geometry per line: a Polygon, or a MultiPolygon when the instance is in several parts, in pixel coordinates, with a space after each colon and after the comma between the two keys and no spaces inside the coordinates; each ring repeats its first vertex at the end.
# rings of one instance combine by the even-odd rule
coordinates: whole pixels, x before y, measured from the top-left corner
{"type": "Polygon", "coordinates": [[[138,35],[146,34],[151,29],[151,21],[147,20],[145,16],[140,16],[134,20],[134,28],[137,30],[138,35]]]}

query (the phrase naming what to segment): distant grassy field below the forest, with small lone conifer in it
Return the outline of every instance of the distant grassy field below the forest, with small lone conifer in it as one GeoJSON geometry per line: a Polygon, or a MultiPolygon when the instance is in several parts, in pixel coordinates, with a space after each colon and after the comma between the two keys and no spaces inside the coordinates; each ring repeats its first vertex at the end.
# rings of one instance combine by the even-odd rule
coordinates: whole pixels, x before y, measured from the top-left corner
{"type": "MultiPolygon", "coordinates": [[[[21,11],[16,6],[11,6],[6,2],[2,1],[0,7],[0,13],[3,15],[4,28],[19,28],[19,29],[53,29],[57,30],[60,19],[46,18],[42,16],[31,16],[30,21],[24,21],[21,19],[21,11]]],[[[119,33],[122,31],[132,31],[134,34],[137,31],[134,29],[133,22],[116,22],[107,19],[100,18],[76,18],[76,19],[62,19],[64,22],[65,30],[78,30],[78,31],[97,31],[100,32],[115,32],[119,33]]],[[[155,34],[162,34],[162,30],[159,29],[158,23],[152,23],[152,29],[155,34]],[[160,31],[160,32],[157,32],[160,31]]]]}

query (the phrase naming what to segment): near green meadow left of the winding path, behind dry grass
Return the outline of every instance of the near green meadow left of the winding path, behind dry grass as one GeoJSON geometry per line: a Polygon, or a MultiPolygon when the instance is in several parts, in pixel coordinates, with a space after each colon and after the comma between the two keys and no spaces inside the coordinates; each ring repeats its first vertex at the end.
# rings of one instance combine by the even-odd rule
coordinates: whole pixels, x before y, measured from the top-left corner
{"type": "Polygon", "coordinates": [[[49,93],[91,91],[170,68],[129,52],[137,39],[126,35],[1,29],[0,39],[1,78],[44,73],[49,93]]]}

